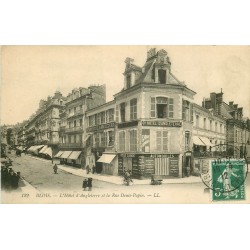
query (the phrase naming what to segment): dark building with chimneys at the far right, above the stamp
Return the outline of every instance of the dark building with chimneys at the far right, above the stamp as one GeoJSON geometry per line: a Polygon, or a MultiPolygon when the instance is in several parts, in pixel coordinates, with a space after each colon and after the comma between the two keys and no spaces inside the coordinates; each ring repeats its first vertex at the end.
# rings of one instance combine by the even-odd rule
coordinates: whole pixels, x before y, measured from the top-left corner
{"type": "Polygon", "coordinates": [[[202,106],[226,120],[227,154],[237,158],[244,157],[246,145],[250,142],[250,122],[243,117],[243,108],[233,101],[225,103],[222,91],[210,93],[210,98],[206,98],[202,106]]]}

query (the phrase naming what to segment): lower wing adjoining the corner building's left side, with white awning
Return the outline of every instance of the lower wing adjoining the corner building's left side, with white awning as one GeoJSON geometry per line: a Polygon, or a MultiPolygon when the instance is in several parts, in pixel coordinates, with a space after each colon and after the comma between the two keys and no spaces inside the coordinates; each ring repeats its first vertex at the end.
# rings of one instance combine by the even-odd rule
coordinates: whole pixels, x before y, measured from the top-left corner
{"type": "Polygon", "coordinates": [[[95,165],[97,173],[117,175],[115,101],[89,110],[87,121],[86,165],[91,169],[95,165]]]}

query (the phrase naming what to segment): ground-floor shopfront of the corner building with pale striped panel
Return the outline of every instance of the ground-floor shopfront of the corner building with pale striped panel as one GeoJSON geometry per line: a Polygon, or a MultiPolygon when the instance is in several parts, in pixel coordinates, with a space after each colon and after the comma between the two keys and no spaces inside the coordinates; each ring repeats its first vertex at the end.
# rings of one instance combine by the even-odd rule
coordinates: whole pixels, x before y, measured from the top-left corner
{"type": "Polygon", "coordinates": [[[133,178],[180,177],[181,164],[178,154],[118,154],[118,175],[131,170],[133,178]]]}

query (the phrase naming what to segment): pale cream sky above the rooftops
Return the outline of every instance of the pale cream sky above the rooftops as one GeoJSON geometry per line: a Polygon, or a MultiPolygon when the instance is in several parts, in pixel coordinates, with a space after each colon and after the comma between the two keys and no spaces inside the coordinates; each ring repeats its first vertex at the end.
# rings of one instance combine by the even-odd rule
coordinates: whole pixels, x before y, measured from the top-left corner
{"type": "Polygon", "coordinates": [[[106,84],[107,101],[123,88],[126,57],[138,66],[150,48],[165,49],[171,72],[197,94],[224,93],[250,117],[250,46],[2,46],[1,125],[27,120],[39,101],[59,90],[106,84]]]}

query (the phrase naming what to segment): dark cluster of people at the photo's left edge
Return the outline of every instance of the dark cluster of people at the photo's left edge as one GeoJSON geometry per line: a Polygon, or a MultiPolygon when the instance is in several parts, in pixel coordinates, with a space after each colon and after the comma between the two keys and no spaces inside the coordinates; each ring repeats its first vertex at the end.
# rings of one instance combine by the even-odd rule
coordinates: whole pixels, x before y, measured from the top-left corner
{"type": "Polygon", "coordinates": [[[15,172],[11,167],[2,166],[1,168],[1,188],[2,190],[16,190],[21,178],[20,172],[15,172]]]}

